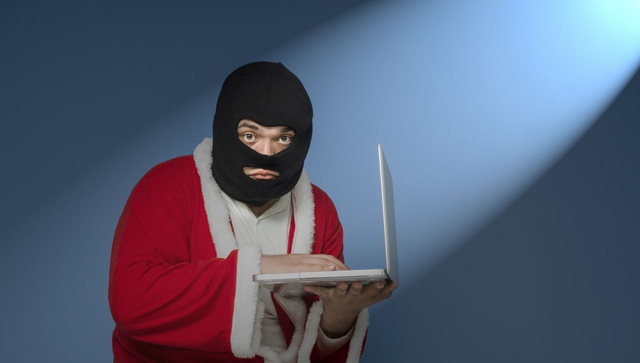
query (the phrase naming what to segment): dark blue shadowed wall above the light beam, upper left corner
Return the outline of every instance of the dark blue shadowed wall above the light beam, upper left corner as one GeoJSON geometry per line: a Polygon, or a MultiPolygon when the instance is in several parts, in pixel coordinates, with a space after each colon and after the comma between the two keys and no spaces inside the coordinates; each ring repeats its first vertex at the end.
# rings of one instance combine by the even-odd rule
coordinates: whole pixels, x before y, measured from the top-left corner
{"type": "Polygon", "coordinates": [[[0,229],[238,65],[360,3],[3,4],[0,185],[13,193],[0,229]]]}

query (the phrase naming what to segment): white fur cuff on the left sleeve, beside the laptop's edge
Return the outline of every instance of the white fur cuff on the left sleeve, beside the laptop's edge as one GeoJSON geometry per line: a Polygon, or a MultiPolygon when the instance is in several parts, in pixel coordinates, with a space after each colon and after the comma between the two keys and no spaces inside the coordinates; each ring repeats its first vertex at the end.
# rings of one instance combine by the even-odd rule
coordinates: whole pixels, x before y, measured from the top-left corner
{"type": "MultiPolygon", "coordinates": [[[[253,339],[255,334],[260,335],[262,320],[261,314],[257,311],[258,284],[253,282],[253,275],[260,273],[260,248],[257,246],[242,246],[238,250],[238,261],[236,266],[236,297],[234,298],[234,316],[231,325],[231,351],[238,358],[251,358],[255,356],[252,343],[259,341],[260,337],[253,339]],[[256,324],[256,318],[260,318],[256,324]]],[[[264,311],[264,303],[262,311],[264,311]]],[[[257,344],[256,344],[257,345],[257,344]]]]}

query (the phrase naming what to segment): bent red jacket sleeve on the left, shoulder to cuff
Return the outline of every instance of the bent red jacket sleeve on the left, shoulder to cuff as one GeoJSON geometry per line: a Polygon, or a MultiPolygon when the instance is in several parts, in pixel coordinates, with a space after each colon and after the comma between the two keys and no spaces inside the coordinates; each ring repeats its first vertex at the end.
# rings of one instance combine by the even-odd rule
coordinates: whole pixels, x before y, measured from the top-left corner
{"type": "MultiPolygon", "coordinates": [[[[120,331],[145,343],[232,351],[234,300],[242,293],[238,289],[255,295],[250,291],[254,286],[238,287],[237,280],[259,273],[260,253],[243,248],[224,258],[191,261],[189,238],[199,184],[188,178],[161,164],[131,192],[111,252],[111,314],[120,331]]],[[[250,339],[252,331],[233,334],[250,339]]]]}

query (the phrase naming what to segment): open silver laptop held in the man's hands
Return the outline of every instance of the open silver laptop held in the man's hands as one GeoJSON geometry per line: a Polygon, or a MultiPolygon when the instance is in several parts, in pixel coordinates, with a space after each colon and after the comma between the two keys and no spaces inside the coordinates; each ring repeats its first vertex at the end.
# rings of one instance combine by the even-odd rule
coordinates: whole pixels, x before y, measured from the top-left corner
{"type": "Polygon", "coordinates": [[[360,281],[363,284],[371,284],[372,282],[378,281],[385,282],[385,284],[388,282],[396,282],[396,287],[399,287],[400,277],[398,274],[394,191],[391,172],[389,172],[387,159],[382,152],[382,146],[380,144],[378,144],[378,159],[380,160],[382,220],[385,229],[387,268],[374,270],[262,273],[260,275],[253,275],[253,281],[258,282],[261,286],[267,287],[274,293],[282,296],[310,294],[303,289],[305,285],[333,287],[339,282],[360,281]]]}

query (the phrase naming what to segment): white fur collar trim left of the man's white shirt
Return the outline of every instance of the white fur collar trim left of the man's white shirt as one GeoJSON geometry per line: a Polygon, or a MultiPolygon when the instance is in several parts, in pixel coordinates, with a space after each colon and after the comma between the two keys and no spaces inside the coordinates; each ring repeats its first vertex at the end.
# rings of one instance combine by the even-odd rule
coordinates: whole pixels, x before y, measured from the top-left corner
{"type": "Polygon", "coordinates": [[[220,258],[227,258],[231,251],[238,248],[236,237],[228,223],[229,211],[227,204],[222,198],[220,187],[211,175],[211,147],[212,139],[205,138],[193,151],[193,159],[196,162],[198,175],[200,175],[200,186],[202,188],[202,198],[204,199],[204,210],[207,213],[209,231],[216,247],[216,255],[220,258]]]}

